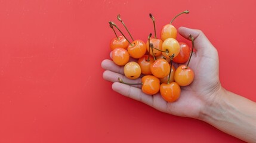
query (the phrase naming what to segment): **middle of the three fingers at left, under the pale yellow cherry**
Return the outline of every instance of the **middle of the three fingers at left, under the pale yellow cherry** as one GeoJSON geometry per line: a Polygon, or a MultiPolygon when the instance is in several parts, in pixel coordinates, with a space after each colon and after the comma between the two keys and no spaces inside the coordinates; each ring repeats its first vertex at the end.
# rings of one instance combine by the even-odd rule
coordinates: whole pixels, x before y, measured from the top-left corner
{"type": "MultiPolygon", "coordinates": [[[[115,73],[110,70],[106,70],[103,72],[103,79],[109,82],[119,82],[118,77],[121,78],[125,83],[141,83],[141,78],[138,79],[128,79],[123,74],[115,73]]],[[[124,85],[124,83],[122,83],[124,85]]],[[[141,88],[141,85],[131,85],[136,88],[141,88]]]]}

